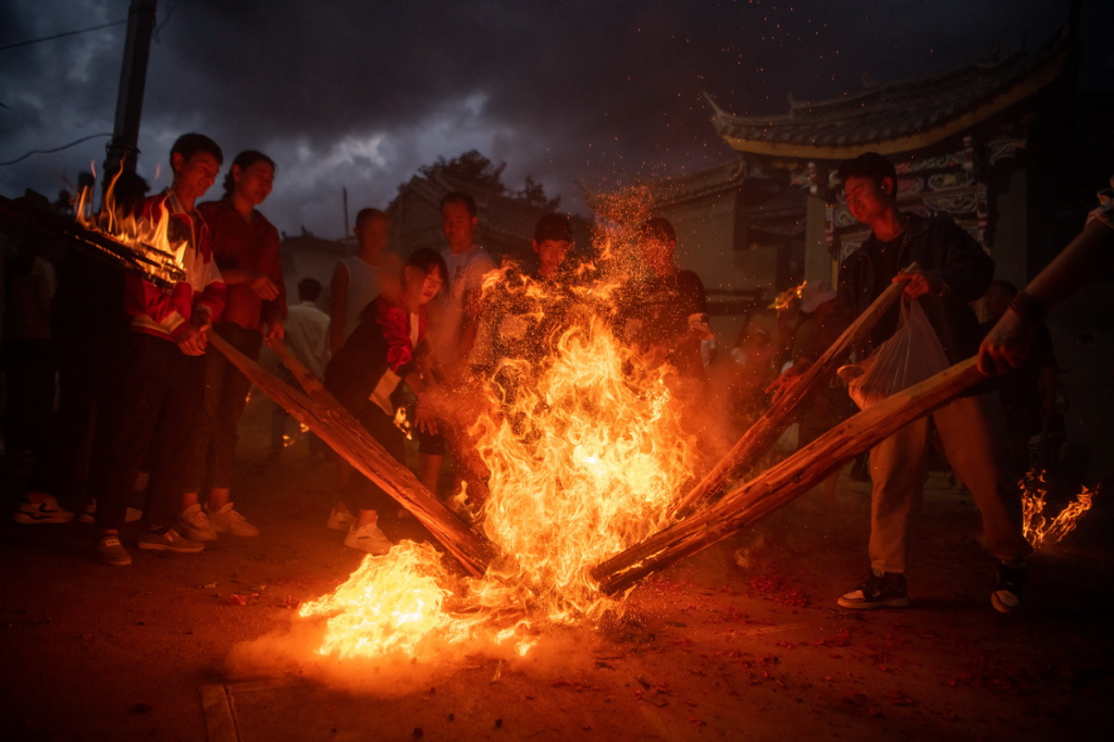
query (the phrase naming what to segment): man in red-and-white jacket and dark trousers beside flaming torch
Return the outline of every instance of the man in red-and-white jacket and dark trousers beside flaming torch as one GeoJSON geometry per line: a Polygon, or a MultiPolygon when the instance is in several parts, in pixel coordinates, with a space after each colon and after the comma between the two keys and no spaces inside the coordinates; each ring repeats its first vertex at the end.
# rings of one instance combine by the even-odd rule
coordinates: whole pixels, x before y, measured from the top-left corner
{"type": "Polygon", "coordinates": [[[201,134],[185,134],[170,148],[174,180],[165,192],[143,202],[140,217],[158,222],[168,215],[168,237],[180,246],[185,280],[169,291],[128,274],[124,304],[130,332],[117,388],[117,403],[102,432],[109,437],[97,462],[92,489],[97,498],[97,556],[113,566],[131,564],[119,528],[145,460],[150,478],[144,504],[140,549],[201,551],[204,544],[174,529],[185,491],[184,456],[202,406],[206,333],[224,309],[226,289],[213,260],[208,226],[195,204],[212,187],[224,155],[201,134]]]}

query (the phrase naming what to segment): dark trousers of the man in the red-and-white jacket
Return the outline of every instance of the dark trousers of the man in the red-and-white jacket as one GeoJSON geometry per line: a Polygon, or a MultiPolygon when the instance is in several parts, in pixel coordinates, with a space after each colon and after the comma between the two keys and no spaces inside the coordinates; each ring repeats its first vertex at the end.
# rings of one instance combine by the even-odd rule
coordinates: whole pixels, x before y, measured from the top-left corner
{"type": "Polygon", "coordinates": [[[95,461],[97,525],[119,528],[144,463],[150,479],[144,502],[148,527],[170,526],[187,489],[186,447],[205,392],[205,357],[186,355],[176,343],[131,332],[116,401],[98,437],[107,436],[95,461]]]}

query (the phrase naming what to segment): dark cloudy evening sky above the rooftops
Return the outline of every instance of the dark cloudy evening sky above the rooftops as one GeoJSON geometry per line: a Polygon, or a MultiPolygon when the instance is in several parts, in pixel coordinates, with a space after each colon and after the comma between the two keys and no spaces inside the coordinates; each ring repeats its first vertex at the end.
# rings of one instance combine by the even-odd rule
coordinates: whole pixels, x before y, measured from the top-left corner
{"type": "MultiPolygon", "coordinates": [[[[857,2],[570,0],[361,2],[159,0],[140,174],[167,183],[184,131],[231,163],[278,164],[262,209],[286,232],[343,231],[385,207],[439,156],[479,149],[584,212],[577,183],[677,175],[732,152],[711,126],[727,111],[782,114],[788,96],[824,100],[957,67],[997,41],[1045,42],[1069,0],[857,2]],[[840,9],[837,9],[840,8],[840,9]],[[849,8],[847,10],[842,8],[849,8]],[[156,168],[159,175],[156,177],[156,168]]],[[[1111,89],[1114,3],[1084,2],[1082,82],[1111,89]]],[[[0,0],[0,48],[123,21],[128,0],[0,0]]],[[[110,133],[126,26],[0,49],[0,163],[110,133]]],[[[51,198],[96,162],[107,137],[0,166],[0,194],[51,198]]],[[[208,197],[219,196],[219,183],[208,197]]]]}

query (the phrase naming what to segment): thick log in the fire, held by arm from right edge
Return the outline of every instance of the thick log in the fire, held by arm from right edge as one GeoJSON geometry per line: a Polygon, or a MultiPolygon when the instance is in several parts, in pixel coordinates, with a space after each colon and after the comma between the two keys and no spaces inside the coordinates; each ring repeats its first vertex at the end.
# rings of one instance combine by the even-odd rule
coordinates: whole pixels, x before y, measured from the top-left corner
{"type": "Polygon", "coordinates": [[[592,570],[605,593],[704,550],[809,491],[842,463],[902,426],[955,399],[985,377],[971,358],[844,420],[716,504],[645,539],[592,570]]]}

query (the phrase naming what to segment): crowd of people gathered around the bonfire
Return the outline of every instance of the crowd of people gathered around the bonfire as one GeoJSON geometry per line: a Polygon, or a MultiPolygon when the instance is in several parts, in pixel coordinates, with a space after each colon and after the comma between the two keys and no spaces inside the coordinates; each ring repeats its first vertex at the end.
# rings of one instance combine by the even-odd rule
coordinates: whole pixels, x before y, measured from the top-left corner
{"type": "MultiPolygon", "coordinates": [[[[569,219],[545,215],[529,266],[500,266],[477,244],[476,203],[465,193],[441,201],[441,251],[404,254],[404,245],[391,244],[387,214],[365,208],[355,223],[359,252],[335,266],[326,313],[316,305],[323,286],[313,279],[299,283],[296,301],[285,295],[278,233],[258,211],[274,162],[254,150],[238,154],[224,170],[223,196],[203,201],[223,164],[212,139],[184,135],[170,150],[169,187],[130,206],[147,222],[168,218],[185,274],[170,289],[74,247],[56,275],[35,230],[6,225],[4,446],[9,459],[26,456],[31,467],[14,520],[94,521],[97,558],[109,565],[131,563],[120,529],[133,519],[143,521],[135,545],[146,550],[194,553],[226,535],[257,536],[232,497],[250,382],[212,346],[215,335],[253,359],[265,343],[285,343],[399,461],[407,439],[399,410],[409,406],[403,417],[417,440],[421,482],[447,495],[438,487],[448,458],[469,497],[482,502],[487,473],[469,432],[478,385],[509,404],[577,316],[577,284],[602,270],[577,253],[569,219]],[[538,291],[516,290],[529,282],[538,291]]],[[[661,217],[632,225],[634,260],[610,273],[622,286],[606,313],[617,339],[646,363],[672,370],[690,431],[729,445],[892,282],[902,284],[905,304],[924,313],[941,363],[979,352],[988,372],[1020,367],[998,389],[960,397],[872,450],[871,573],[840,598],[847,608],[908,604],[908,521],[935,436],[971,491],[987,548],[1000,562],[995,607],[1010,611],[1020,603],[1020,560],[1029,550],[1016,475],[1029,438],[1047,431],[1055,411],[1056,363],[1040,321],[1089,269],[1108,263],[1110,199],[1049,271],[1018,291],[993,281],[994,262],[951,219],[900,212],[897,174],[886,158],[868,153],[849,160],[840,178],[870,237],[840,266],[837,287],[807,283],[752,312],[726,352],[716,355],[703,284],[677,265],[676,233],[661,217]],[[990,318],[981,329],[971,310],[979,299],[990,318]]],[[[859,360],[895,342],[905,318],[897,306],[883,315],[859,360]]],[[[852,411],[839,381],[817,390],[792,446],[852,411]]],[[[275,457],[286,424],[276,409],[275,457]]],[[[315,439],[311,450],[328,456],[315,439]]],[[[864,468],[863,461],[863,477],[864,468]]],[[[345,531],[352,548],[388,550],[379,524],[380,512],[394,507],[387,494],[340,461],[336,492],[328,526],[345,531]]]]}

